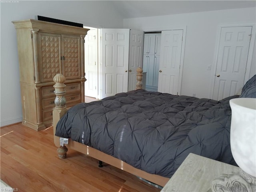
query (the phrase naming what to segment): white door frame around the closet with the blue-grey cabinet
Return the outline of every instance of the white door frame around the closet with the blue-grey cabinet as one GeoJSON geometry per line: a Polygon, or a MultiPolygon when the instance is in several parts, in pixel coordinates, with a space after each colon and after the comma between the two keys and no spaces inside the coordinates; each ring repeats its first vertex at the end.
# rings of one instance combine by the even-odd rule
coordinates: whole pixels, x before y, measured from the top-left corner
{"type": "MultiPolygon", "coordinates": [[[[179,82],[178,82],[178,95],[180,95],[181,94],[181,83],[182,83],[182,72],[183,72],[183,64],[184,64],[184,52],[185,52],[187,26],[152,27],[152,28],[144,28],[144,29],[142,28],[141,30],[144,32],[183,30],[181,56],[180,56],[181,57],[180,58],[180,74],[179,74],[179,82]]],[[[143,80],[142,80],[142,82],[143,82],[143,80]]]]}

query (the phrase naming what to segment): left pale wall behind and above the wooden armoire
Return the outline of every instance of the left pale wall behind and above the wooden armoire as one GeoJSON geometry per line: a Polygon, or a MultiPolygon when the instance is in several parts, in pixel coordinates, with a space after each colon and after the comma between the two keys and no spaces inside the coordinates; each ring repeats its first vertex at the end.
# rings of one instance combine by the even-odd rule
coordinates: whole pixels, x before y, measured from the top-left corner
{"type": "Polygon", "coordinates": [[[12,21],[40,15],[101,28],[122,28],[123,25],[122,18],[104,1],[1,1],[0,13],[0,126],[22,120],[18,50],[12,21]]]}

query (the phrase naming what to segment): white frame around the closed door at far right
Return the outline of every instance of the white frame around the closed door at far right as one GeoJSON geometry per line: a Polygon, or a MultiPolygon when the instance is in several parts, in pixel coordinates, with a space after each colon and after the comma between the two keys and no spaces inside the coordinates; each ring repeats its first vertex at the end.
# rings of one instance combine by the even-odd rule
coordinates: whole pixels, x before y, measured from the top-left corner
{"type": "Polygon", "coordinates": [[[255,44],[255,36],[256,36],[256,25],[254,23],[245,23],[245,24],[220,24],[218,25],[218,30],[217,30],[217,38],[216,38],[216,47],[215,47],[215,52],[214,52],[214,63],[213,63],[213,70],[212,70],[212,76],[211,76],[211,89],[209,92],[209,98],[213,98],[213,90],[214,90],[214,81],[215,81],[215,75],[216,75],[216,70],[217,70],[217,60],[218,60],[218,49],[220,46],[220,34],[221,34],[221,29],[223,27],[246,27],[246,26],[252,26],[252,36],[250,40],[250,45],[249,45],[249,50],[248,50],[248,58],[247,58],[247,63],[246,63],[246,71],[245,71],[245,76],[244,76],[244,84],[249,80],[250,78],[250,70],[252,67],[252,57],[253,57],[253,49],[254,49],[254,44],[255,44]]]}

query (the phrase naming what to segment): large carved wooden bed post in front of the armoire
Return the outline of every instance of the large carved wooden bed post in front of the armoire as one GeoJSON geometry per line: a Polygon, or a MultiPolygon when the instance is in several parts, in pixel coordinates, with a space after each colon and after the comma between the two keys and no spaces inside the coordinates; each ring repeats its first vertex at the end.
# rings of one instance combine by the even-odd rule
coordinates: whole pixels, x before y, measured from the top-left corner
{"type": "MultiPolygon", "coordinates": [[[[53,133],[54,133],[54,144],[56,146],[60,146],[60,138],[55,136],[56,133],[56,125],[60,118],[68,111],[66,108],[66,90],[65,87],[66,85],[64,84],[66,78],[62,74],[56,74],[53,78],[53,81],[55,82],[54,84],[54,94],[56,95],[56,98],[54,100],[55,103],[55,108],[52,112],[52,118],[53,118],[53,133]]],[[[68,148],[66,146],[60,146],[57,149],[58,156],[60,159],[66,158],[66,152],[68,151],[68,148]]]]}

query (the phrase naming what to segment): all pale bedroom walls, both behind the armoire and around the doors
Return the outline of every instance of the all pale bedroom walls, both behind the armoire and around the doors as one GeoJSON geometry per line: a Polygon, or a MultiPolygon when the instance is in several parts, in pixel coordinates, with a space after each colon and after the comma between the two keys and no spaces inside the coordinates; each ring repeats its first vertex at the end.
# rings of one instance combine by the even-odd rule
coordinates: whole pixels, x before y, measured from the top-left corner
{"type": "MultiPolygon", "coordinates": [[[[219,24],[255,23],[255,8],[177,14],[122,20],[104,1],[1,1],[0,126],[20,122],[19,64],[13,20],[34,19],[35,15],[83,23],[99,28],[170,28],[187,26],[182,94],[209,97],[219,24]],[[96,11],[98,9],[98,11],[96,11]]],[[[255,35],[255,32],[254,32],[255,35]]],[[[255,50],[255,48],[254,48],[255,50]]],[[[255,54],[252,61],[255,71],[255,54]]],[[[250,76],[256,72],[251,72],[250,76]]]]}

